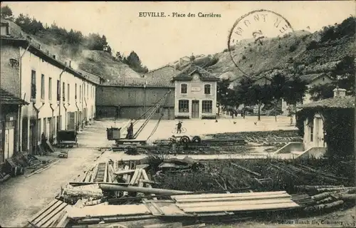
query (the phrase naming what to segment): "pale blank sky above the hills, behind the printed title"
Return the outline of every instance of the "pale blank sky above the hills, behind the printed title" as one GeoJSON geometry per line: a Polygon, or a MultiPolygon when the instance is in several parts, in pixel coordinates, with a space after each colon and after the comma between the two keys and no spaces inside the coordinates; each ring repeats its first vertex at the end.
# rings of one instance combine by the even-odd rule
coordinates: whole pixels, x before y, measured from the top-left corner
{"type": "Polygon", "coordinates": [[[125,55],[135,51],[150,70],[192,53],[223,51],[236,20],[251,11],[270,10],[281,14],[294,31],[314,32],[355,16],[356,10],[355,1],[2,1],[4,5],[10,6],[15,16],[28,14],[48,26],[56,22],[85,35],[105,35],[113,51],[125,55]],[[163,12],[166,17],[140,17],[140,12],[163,12]],[[199,17],[199,12],[221,16],[199,17]],[[174,17],[174,13],[185,17],[174,17]],[[188,17],[189,13],[195,17],[188,17]]]}

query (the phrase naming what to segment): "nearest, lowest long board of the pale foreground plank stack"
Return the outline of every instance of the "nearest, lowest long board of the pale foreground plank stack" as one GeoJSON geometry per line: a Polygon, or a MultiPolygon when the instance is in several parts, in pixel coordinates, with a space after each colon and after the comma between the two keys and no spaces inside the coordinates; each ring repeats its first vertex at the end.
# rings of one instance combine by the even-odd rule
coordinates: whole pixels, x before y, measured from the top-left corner
{"type": "Polygon", "coordinates": [[[253,204],[253,205],[236,205],[236,206],[217,206],[217,207],[187,207],[184,212],[241,212],[262,209],[288,209],[299,207],[295,202],[282,203],[282,204],[253,204]]]}

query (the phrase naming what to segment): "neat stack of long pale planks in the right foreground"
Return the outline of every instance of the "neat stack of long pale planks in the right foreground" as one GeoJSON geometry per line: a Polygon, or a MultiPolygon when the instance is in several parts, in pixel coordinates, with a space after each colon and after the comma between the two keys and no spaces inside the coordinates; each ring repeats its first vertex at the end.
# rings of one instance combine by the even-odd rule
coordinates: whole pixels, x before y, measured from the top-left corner
{"type": "Polygon", "coordinates": [[[285,191],[172,196],[183,212],[246,212],[299,207],[285,191]]]}

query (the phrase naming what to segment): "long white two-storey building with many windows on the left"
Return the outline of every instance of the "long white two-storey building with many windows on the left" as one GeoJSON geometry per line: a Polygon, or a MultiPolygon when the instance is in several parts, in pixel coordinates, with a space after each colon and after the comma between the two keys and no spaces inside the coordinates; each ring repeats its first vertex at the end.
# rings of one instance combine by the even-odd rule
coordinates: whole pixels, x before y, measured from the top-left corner
{"type": "Polygon", "coordinates": [[[19,111],[19,151],[36,153],[42,133],[56,142],[58,130],[83,128],[95,117],[100,77],[75,71],[70,62],[61,63],[31,40],[1,36],[3,83],[29,104],[19,111]]]}

